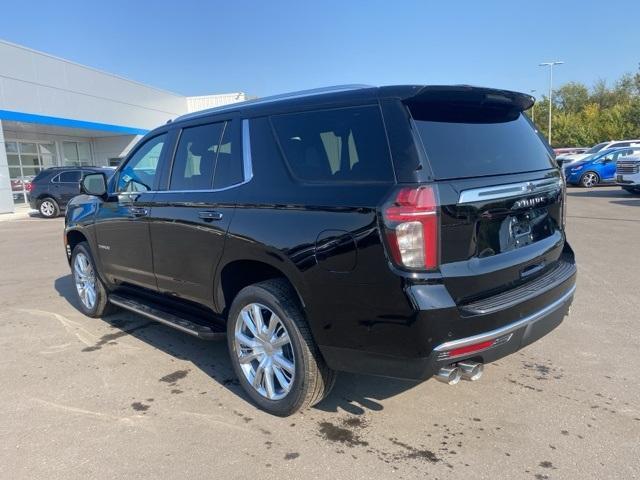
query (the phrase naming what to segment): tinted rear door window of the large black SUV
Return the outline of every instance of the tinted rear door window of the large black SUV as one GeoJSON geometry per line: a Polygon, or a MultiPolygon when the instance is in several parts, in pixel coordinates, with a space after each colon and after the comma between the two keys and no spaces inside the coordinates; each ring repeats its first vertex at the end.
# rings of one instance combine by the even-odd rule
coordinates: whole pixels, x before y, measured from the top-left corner
{"type": "Polygon", "coordinates": [[[211,188],[224,126],[222,122],[182,130],[171,171],[170,190],[211,188]]]}

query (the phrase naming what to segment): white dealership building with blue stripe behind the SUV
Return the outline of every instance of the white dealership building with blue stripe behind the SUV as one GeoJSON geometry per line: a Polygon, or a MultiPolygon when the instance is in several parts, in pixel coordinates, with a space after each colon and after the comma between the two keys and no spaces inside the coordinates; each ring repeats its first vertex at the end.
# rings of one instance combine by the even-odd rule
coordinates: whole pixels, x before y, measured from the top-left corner
{"type": "Polygon", "coordinates": [[[44,168],[116,166],[154,127],[245,99],[185,97],[0,40],[0,213],[44,168]]]}

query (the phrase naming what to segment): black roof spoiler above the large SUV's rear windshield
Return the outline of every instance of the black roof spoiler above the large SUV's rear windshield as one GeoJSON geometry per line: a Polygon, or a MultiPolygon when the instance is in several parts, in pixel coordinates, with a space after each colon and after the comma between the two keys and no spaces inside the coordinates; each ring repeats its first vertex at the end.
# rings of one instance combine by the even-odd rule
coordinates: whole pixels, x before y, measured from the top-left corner
{"type": "Polygon", "coordinates": [[[428,85],[403,98],[406,103],[459,103],[467,105],[502,105],[521,112],[535,103],[535,98],[525,93],[471,85],[428,85]]]}

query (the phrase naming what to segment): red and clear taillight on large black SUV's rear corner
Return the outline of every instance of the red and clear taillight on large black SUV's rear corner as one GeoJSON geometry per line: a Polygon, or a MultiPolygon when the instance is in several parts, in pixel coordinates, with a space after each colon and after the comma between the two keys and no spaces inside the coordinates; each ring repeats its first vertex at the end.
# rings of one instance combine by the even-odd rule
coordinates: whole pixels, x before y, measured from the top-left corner
{"type": "Polygon", "coordinates": [[[412,270],[438,267],[438,202],[434,187],[398,190],[382,215],[389,251],[397,265],[412,270]]]}

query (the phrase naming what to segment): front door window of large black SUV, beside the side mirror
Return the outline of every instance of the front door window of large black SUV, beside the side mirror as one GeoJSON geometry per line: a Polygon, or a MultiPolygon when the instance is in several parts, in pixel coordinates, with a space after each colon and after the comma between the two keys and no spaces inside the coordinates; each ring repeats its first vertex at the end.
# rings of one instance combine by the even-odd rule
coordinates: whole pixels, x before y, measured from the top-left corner
{"type": "Polygon", "coordinates": [[[152,190],[158,170],[158,162],[166,143],[167,134],[147,140],[120,171],[119,192],[145,192],[152,190]]]}

